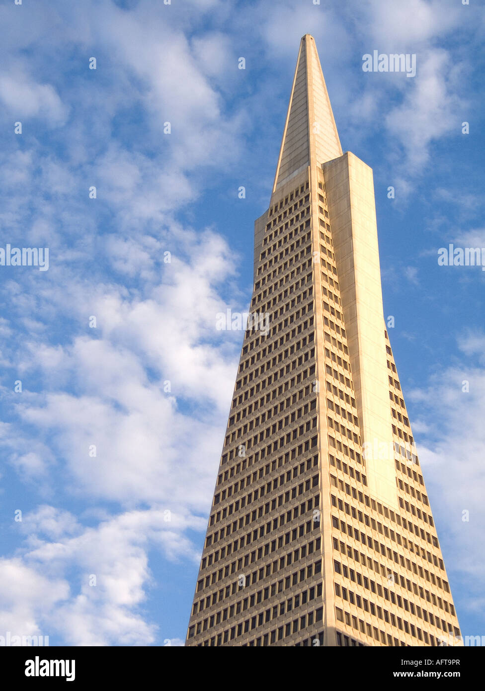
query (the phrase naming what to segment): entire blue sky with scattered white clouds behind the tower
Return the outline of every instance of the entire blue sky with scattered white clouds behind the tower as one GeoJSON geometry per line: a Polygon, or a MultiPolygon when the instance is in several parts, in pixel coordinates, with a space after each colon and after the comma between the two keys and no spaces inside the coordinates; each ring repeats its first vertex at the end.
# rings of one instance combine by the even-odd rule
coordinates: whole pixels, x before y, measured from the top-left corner
{"type": "Polygon", "coordinates": [[[8,0],[0,26],[0,247],[49,248],[47,271],[0,266],[0,635],[184,639],[242,343],[216,314],[249,305],[306,32],[374,170],[390,340],[484,635],[485,272],[437,263],[485,247],[479,3],[8,0]],[[364,73],[374,49],[416,76],[364,73]]]}

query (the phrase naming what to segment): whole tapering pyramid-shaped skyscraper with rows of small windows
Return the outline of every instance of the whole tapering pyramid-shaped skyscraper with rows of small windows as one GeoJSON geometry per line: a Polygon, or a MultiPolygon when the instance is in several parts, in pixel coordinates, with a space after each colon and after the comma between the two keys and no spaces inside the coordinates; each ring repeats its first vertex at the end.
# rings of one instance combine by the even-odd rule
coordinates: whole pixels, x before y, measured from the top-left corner
{"type": "Polygon", "coordinates": [[[301,39],[186,645],[459,645],[383,316],[372,170],[301,39]]]}

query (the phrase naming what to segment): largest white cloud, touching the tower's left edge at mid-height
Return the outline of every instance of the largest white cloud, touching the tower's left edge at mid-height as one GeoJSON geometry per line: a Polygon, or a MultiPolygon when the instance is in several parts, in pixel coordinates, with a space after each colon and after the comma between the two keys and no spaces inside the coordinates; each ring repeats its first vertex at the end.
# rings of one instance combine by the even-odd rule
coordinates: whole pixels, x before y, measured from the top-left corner
{"type": "Polygon", "coordinates": [[[172,236],[160,283],[155,240],[144,245],[158,256],[114,236],[108,243],[117,269],[136,272],[139,287],[131,293],[71,274],[37,294],[44,319],[61,310],[78,332],[64,345],[50,345],[38,330],[19,343],[15,366],[24,390],[12,403],[30,433],[7,428],[3,443],[19,477],[41,478],[47,495],[49,473],[62,468],[68,493],[205,511],[242,339],[241,332],[216,330],[217,312],[239,306],[218,292],[234,258],[216,234],[194,241],[186,233],[182,245],[172,236]],[[39,393],[30,384],[37,377],[39,393]]]}

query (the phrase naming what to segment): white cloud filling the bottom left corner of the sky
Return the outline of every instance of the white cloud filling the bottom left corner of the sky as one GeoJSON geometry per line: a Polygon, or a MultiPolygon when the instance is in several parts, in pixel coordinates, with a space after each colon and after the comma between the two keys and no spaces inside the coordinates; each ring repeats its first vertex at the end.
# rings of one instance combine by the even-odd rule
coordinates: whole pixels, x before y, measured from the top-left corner
{"type": "Polygon", "coordinates": [[[46,505],[24,515],[22,558],[0,560],[0,630],[56,634],[68,645],[153,643],[157,627],[138,612],[151,584],[147,551],[155,545],[172,559],[195,559],[182,535],[193,525],[164,509],[122,513],[93,528],[46,505]]]}

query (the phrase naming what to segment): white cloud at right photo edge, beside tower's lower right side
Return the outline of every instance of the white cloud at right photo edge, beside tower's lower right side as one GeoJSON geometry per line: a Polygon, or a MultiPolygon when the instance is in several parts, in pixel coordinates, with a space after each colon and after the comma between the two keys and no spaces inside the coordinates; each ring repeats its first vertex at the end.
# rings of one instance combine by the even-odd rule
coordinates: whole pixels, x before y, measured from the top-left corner
{"type": "MultiPolygon", "coordinates": [[[[462,350],[475,352],[480,339],[479,334],[470,336],[462,341],[462,350]]],[[[473,608],[485,587],[479,549],[485,527],[485,370],[466,360],[460,365],[441,370],[428,387],[412,392],[412,398],[419,401],[424,421],[415,433],[421,437],[419,458],[445,564],[453,582],[462,584],[462,606],[473,608]],[[469,392],[464,392],[464,379],[469,392]]]]}

